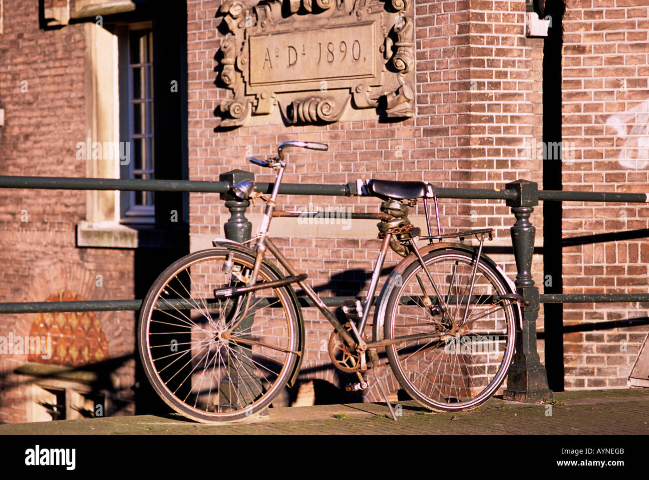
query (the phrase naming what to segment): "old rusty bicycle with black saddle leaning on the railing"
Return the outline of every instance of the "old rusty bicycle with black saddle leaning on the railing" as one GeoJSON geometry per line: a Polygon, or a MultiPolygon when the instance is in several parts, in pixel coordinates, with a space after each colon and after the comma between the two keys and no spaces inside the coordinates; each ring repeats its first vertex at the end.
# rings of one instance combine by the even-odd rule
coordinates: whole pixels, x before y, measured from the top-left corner
{"type": "Polygon", "coordinates": [[[358,378],[349,390],[367,388],[363,372],[381,365],[379,356],[385,354],[400,385],[424,407],[459,411],[488,400],[508,372],[525,304],[513,282],[482,253],[493,229],[442,234],[437,196],[428,182],[357,181],[358,194],[383,200],[381,214],[356,214],[381,220],[382,244],[367,296],[345,303],[343,325],[306,282],[306,273],[298,273],[268,236],[273,216],[300,213],[276,211],[287,147],[327,150],[326,144],[289,141],[280,144],[275,158],[250,159],[276,174],[269,198],[255,192],[251,180],[232,189],[240,200],[265,201],[258,235],[250,240],[254,246],[215,240],[214,248],[171,264],[147,293],[138,345],[155,391],[199,422],[241,420],[272,407],[297,380],[304,358],[297,284],[334,326],[328,352],[337,369],[358,378]],[[437,235],[428,218],[430,198],[437,235]],[[419,199],[426,207],[427,236],[408,219],[419,199]],[[477,247],[462,243],[468,236],[476,236],[477,247]],[[418,247],[417,238],[428,244],[418,247]],[[376,299],[369,340],[364,332],[389,247],[404,258],[376,299]]]}

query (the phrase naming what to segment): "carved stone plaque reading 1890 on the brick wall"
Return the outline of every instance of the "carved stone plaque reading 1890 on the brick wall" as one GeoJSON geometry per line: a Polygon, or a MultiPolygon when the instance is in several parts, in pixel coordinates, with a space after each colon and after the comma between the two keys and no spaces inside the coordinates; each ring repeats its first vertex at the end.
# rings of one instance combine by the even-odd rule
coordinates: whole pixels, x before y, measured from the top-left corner
{"type": "Polygon", "coordinates": [[[414,115],[413,6],[404,0],[267,0],[221,6],[232,36],[219,79],[234,99],[221,126],[280,110],[288,124],[334,122],[352,109],[414,115]]]}

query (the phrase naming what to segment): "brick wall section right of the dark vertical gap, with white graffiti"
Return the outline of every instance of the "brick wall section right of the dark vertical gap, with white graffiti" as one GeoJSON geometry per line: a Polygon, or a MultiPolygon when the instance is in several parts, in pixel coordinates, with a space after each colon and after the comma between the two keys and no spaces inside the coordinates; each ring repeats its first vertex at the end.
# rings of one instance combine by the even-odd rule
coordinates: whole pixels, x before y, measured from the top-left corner
{"type": "MultiPolygon", "coordinates": [[[[565,190],[646,192],[649,167],[649,3],[567,0],[563,19],[565,190]]],[[[565,293],[646,293],[649,210],[643,205],[564,203],[565,293]],[[593,235],[635,234],[605,241],[593,235]],[[574,240],[573,240],[574,242],[574,240]]],[[[610,239],[610,236],[609,236],[610,239]]],[[[567,304],[565,386],[624,388],[646,339],[648,304],[567,304]]]]}

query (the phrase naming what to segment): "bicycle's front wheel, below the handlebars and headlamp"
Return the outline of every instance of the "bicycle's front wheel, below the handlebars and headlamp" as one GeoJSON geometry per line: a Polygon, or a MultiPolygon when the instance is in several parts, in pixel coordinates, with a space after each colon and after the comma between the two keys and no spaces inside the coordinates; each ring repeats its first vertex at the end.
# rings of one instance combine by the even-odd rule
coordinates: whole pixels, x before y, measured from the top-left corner
{"type": "MultiPolygon", "coordinates": [[[[248,285],[253,266],[254,254],[238,249],[192,253],[169,266],[145,298],[138,332],[144,370],[185,417],[248,417],[271,406],[295,368],[299,315],[289,287],[215,297],[215,290],[248,285]]],[[[256,282],[277,279],[262,264],[256,282]]]]}

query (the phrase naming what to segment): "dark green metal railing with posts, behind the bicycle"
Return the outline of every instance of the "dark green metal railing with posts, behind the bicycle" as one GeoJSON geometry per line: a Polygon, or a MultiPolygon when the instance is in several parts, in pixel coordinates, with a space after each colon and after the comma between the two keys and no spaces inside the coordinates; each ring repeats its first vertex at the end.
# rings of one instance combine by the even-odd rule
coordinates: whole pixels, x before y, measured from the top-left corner
{"type": "MultiPolygon", "coordinates": [[[[242,179],[254,179],[250,172],[234,170],[222,174],[219,181],[188,180],[129,180],[94,179],[67,177],[0,177],[0,188],[4,189],[56,189],[56,190],[130,190],[152,192],[210,192],[221,194],[230,218],[224,224],[227,238],[243,242],[249,240],[252,224],[245,218],[249,201],[238,200],[228,192],[242,179]]],[[[272,183],[256,183],[255,190],[270,193],[272,183]]],[[[596,293],[596,294],[539,294],[532,279],[532,254],[535,227],[530,223],[533,207],[539,201],[593,201],[617,203],[648,203],[644,193],[618,192],[566,192],[560,190],[538,190],[535,182],[517,180],[506,184],[505,189],[435,189],[438,198],[463,200],[505,200],[511,207],[515,223],[510,233],[513,254],[517,266],[515,284],[517,291],[529,306],[523,309],[523,328],[517,332],[517,349],[514,363],[509,371],[505,398],[523,402],[539,402],[552,398],[548,388],[545,367],[537,352],[536,320],[540,303],[618,303],[649,302],[649,293],[596,293]]],[[[356,183],[344,185],[314,185],[282,183],[280,194],[355,196],[356,183]]],[[[323,297],[328,306],[339,306],[349,297],[323,297]]],[[[300,297],[304,307],[313,302],[300,297]]],[[[38,312],[86,312],[140,310],[142,300],[106,300],[75,302],[21,302],[0,303],[0,314],[26,314],[38,312]]]]}

